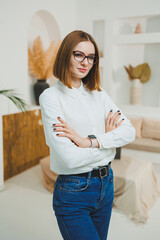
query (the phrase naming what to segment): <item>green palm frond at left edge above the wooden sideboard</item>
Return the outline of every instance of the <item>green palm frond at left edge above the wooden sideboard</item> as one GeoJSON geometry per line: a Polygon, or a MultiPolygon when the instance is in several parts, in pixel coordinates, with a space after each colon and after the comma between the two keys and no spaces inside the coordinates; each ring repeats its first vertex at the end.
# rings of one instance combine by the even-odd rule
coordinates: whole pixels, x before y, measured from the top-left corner
{"type": "Polygon", "coordinates": [[[26,111],[26,108],[28,107],[27,103],[22,98],[18,97],[18,94],[14,89],[0,90],[0,94],[9,98],[20,111],[26,111]]]}

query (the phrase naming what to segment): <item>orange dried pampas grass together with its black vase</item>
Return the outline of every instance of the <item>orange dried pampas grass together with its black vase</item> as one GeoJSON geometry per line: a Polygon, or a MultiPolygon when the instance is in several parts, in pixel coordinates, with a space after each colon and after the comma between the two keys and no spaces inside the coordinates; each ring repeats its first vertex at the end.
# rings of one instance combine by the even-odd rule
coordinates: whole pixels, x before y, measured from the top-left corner
{"type": "Polygon", "coordinates": [[[38,80],[34,84],[36,104],[39,105],[40,94],[49,87],[46,80],[53,76],[53,64],[60,46],[60,41],[52,41],[46,51],[43,50],[42,41],[37,37],[33,42],[33,51],[28,48],[28,67],[31,75],[38,80]]]}

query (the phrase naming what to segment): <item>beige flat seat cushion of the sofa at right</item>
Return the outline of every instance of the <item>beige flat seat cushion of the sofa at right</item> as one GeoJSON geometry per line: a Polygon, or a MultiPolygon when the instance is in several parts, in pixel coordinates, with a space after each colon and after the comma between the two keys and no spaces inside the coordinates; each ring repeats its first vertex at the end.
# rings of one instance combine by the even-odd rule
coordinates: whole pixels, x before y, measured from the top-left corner
{"type": "Polygon", "coordinates": [[[124,148],[160,153],[160,141],[149,138],[136,138],[134,142],[125,145],[124,148]]]}

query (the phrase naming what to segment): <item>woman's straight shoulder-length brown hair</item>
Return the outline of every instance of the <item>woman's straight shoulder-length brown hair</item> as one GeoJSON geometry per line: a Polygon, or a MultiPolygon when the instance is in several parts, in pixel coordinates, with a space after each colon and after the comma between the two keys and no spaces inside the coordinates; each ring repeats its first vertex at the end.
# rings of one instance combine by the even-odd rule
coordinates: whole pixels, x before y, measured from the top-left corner
{"type": "Polygon", "coordinates": [[[97,44],[93,37],[83,31],[73,31],[69,33],[62,41],[60,48],[57,52],[57,56],[55,59],[55,63],[53,66],[53,75],[58,78],[64,85],[69,88],[71,86],[71,73],[70,73],[70,59],[71,54],[75,46],[79,42],[82,41],[90,41],[93,43],[95,48],[95,57],[97,58],[97,62],[92,66],[91,70],[87,74],[86,77],[82,78],[83,83],[86,88],[90,91],[100,89],[100,73],[99,73],[99,51],[97,44]]]}

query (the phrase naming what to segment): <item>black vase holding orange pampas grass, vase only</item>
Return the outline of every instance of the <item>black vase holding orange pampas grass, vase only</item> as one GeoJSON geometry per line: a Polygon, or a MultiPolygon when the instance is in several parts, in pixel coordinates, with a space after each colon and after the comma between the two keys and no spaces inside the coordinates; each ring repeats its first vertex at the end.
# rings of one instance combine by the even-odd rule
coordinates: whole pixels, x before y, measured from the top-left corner
{"type": "Polygon", "coordinates": [[[46,79],[38,79],[34,84],[34,96],[36,105],[39,105],[39,96],[46,88],[49,88],[49,84],[46,82],[46,79]]]}

